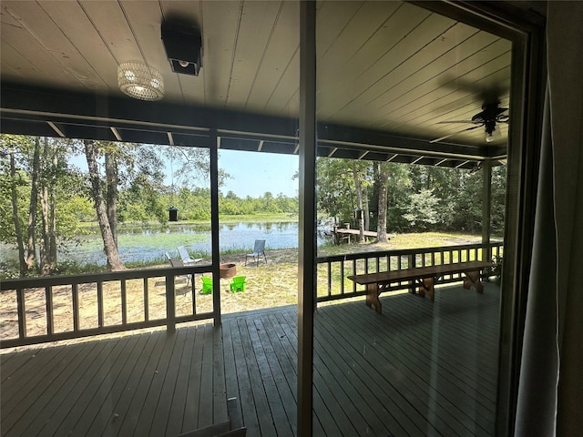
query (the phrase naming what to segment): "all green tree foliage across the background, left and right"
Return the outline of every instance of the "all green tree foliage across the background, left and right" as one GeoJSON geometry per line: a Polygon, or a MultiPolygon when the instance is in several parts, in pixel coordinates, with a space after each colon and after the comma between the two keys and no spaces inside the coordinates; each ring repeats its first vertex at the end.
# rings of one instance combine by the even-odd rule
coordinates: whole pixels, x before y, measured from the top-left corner
{"type": "MultiPolygon", "coordinates": [[[[26,233],[30,208],[31,181],[49,187],[56,198],[56,237],[70,242],[87,233],[87,223],[95,223],[96,212],[91,198],[87,171],[75,165],[82,157],[80,142],[47,138],[44,145],[54,154],[40,168],[33,167],[35,137],[0,135],[0,241],[15,244],[13,191],[20,220],[21,234],[26,233]],[[14,158],[14,177],[10,171],[14,158]],[[35,171],[37,174],[35,174],[35,171]]],[[[43,138],[45,141],[45,138],[43,138]]],[[[100,142],[101,159],[106,152],[118,161],[118,221],[166,225],[168,208],[179,208],[180,221],[210,220],[210,152],[196,147],[159,147],[130,143],[100,142]],[[173,170],[171,182],[164,170],[173,170]]],[[[483,172],[455,168],[435,168],[385,163],[387,179],[387,230],[420,232],[452,230],[477,232],[482,223],[483,172]]],[[[373,214],[378,202],[374,198],[373,163],[359,160],[356,171],[363,184],[363,194],[373,214]],[[371,189],[367,189],[371,188],[371,189]]],[[[220,184],[229,175],[220,172],[220,184]]],[[[353,222],[356,207],[353,160],[318,158],[317,199],[319,217],[353,222]]],[[[504,230],[506,167],[492,169],[491,230],[504,230]]],[[[37,205],[36,229],[41,228],[41,203],[37,205]]],[[[244,218],[260,214],[286,214],[296,218],[298,198],[266,191],[259,198],[239,198],[232,191],[220,194],[221,216],[244,218]]],[[[375,220],[372,220],[374,229],[375,220]]],[[[22,237],[22,236],[21,236],[22,237]]],[[[97,243],[96,243],[97,244],[97,243]]],[[[59,260],[59,271],[75,271],[59,260]]]]}

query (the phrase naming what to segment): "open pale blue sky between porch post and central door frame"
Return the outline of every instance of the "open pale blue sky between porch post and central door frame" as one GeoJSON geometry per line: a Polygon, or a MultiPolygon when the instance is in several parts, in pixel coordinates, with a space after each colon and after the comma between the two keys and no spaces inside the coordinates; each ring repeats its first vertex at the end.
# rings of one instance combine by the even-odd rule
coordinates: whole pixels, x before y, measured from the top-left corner
{"type": "Polygon", "coordinates": [[[220,150],[219,168],[231,176],[220,191],[224,195],[232,191],[240,198],[259,198],[266,191],[274,197],[280,193],[295,197],[298,179],[292,177],[298,171],[298,163],[297,155],[220,150]]]}

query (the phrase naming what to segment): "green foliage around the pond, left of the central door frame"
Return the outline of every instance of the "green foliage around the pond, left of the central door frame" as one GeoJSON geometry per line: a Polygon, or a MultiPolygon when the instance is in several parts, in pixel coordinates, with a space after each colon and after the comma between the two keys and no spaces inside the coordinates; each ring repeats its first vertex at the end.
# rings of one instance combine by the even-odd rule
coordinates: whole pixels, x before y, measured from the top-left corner
{"type": "MultiPolygon", "coordinates": [[[[168,208],[179,208],[180,221],[208,222],[210,220],[210,152],[195,147],[160,147],[132,143],[96,141],[97,173],[104,194],[107,195],[104,158],[109,157],[115,164],[113,173],[117,180],[116,212],[119,227],[131,223],[151,224],[158,222],[168,225],[168,208]],[[168,162],[170,160],[170,162],[168,162]],[[165,178],[165,169],[173,170],[171,182],[165,178]],[[175,184],[176,182],[176,184],[175,184]]],[[[13,203],[16,205],[18,238],[27,239],[31,194],[39,196],[42,189],[48,190],[51,211],[55,214],[55,238],[60,246],[59,253],[66,253],[66,247],[83,244],[87,248],[103,247],[98,237],[97,213],[93,189],[87,175],[85,146],[82,141],[63,138],[36,138],[24,136],[0,136],[0,241],[16,246],[16,226],[13,203]],[[38,145],[38,146],[36,146],[38,145]],[[40,150],[40,165],[34,166],[35,151],[40,150]],[[11,165],[11,162],[14,163],[11,165]],[[11,168],[14,167],[14,170],[11,168]],[[13,176],[14,175],[14,176],[13,176]],[[37,181],[37,193],[32,189],[32,181],[37,181]],[[13,199],[14,197],[14,199],[13,199]],[[13,202],[14,200],[14,202],[13,202]],[[53,208],[54,207],[54,208],[53,208]],[[94,236],[96,236],[94,238],[94,236]],[[65,252],[63,251],[65,249],[65,252]]],[[[37,157],[38,157],[37,153],[37,157]]],[[[39,160],[36,160],[38,163],[39,160]]],[[[111,168],[111,167],[110,167],[111,168]]],[[[229,175],[220,171],[220,184],[229,175]]],[[[42,237],[41,214],[43,204],[36,204],[36,239],[42,237]]],[[[244,217],[257,214],[289,214],[297,217],[298,199],[288,198],[271,192],[260,198],[238,198],[234,193],[220,197],[220,214],[244,217]]],[[[141,237],[119,237],[120,246],[139,242],[141,237]]],[[[145,237],[144,237],[145,238],[145,237]]],[[[186,244],[175,241],[170,247],[186,244]]],[[[24,245],[26,249],[26,244],[24,245]]],[[[38,251],[38,245],[37,249],[38,251]]],[[[83,268],[66,259],[57,259],[56,269],[51,272],[75,273],[83,268]]],[[[3,269],[6,266],[3,265],[3,269]]],[[[7,269],[18,271],[18,266],[7,269]]],[[[94,271],[96,269],[93,269],[94,271]]],[[[49,271],[47,271],[50,273],[49,271]]]]}

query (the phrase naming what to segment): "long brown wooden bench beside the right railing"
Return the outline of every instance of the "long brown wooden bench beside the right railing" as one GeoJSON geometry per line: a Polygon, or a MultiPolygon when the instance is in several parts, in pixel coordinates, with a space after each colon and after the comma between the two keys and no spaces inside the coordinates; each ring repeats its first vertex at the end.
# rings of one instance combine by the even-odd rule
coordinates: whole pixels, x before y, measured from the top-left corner
{"type": "MultiPolygon", "coordinates": [[[[469,289],[471,286],[476,287],[480,293],[484,292],[484,285],[480,280],[480,272],[484,269],[493,267],[490,261],[468,261],[456,262],[453,264],[442,264],[439,266],[416,267],[412,269],[401,269],[392,271],[380,271],[377,273],[365,273],[362,275],[352,275],[352,279],[357,284],[366,286],[366,305],[374,305],[376,312],[382,312],[379,295],[383,291],[399,290],[404,286],[401,282],[405,280],[414,280],[419,286],[418,293],[420,296],[428,294],[431,300],[435,300],[435,284],[438,283],[445,275],[455,273],[465,273],[464,288],[469,289]],[[394,286],[392,284],[398,283],[394,286]]],[[[455,279],[459,280],[459,279],[455,279]]]]}

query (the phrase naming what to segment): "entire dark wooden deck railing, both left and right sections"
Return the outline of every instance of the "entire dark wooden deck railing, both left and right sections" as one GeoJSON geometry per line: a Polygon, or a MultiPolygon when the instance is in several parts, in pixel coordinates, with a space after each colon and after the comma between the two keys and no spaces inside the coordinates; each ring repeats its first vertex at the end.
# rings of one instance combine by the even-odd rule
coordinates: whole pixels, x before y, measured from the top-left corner
{"type": "MultiPolygon", "coordinates": [[[[499,259],[503,243],[386,250],[319,257],[318,302],[365,294],[349,275],[474,259],[499,259]]],[[[195,274],[210,265],[138,269],[0,282],[0,347],[68,340],[214,317],[212,295],[200,295],[195,274]],[[190,279],[190,280],[188,280],[190,279]]],[[[461,276],[449,275],[452,282],[461,276]]],[[[413,287],[406,282],[404,289],[413,287]]]]}

